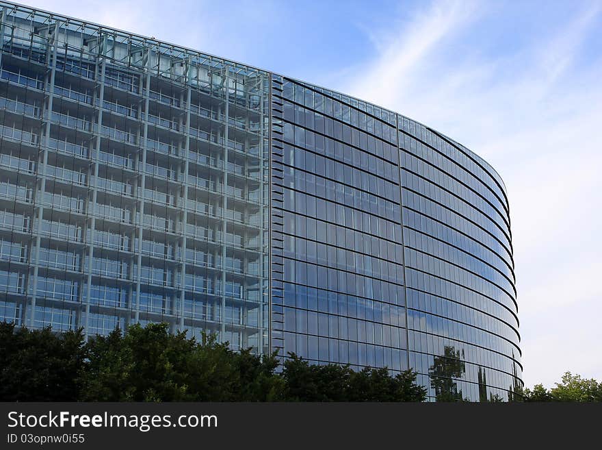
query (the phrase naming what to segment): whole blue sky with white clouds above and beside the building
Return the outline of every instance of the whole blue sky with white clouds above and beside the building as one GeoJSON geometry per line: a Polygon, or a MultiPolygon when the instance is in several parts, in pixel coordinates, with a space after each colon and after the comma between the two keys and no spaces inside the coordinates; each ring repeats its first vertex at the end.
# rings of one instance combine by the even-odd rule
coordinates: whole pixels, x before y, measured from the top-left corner
{"type": "Polygon", "coordinates": [[[602,2],[27,3],[347,92],[467,145],[508,188],[525,383],[602,380],[602,2]]]}

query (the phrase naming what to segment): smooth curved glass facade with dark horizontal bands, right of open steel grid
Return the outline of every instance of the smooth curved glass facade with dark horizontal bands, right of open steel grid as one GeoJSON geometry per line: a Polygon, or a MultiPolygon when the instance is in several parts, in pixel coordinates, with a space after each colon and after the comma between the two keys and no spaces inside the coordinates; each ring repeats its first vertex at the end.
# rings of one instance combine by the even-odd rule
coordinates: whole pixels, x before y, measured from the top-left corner
{"type": "Polygon", "coordinates": [[[272,116],[283,357],[410,367],[432,400],[511,398],[520,337],[495,171],[400,114],[276,75],[272,116]]]}

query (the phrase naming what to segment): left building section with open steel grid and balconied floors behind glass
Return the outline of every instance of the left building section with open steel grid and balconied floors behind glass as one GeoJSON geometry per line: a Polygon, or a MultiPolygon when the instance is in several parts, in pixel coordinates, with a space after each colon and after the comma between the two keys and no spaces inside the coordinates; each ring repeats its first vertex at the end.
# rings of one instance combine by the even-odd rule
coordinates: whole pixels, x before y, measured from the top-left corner
{"type": "Polygon", "coordinates": [[[267,73],[0,7],[1,318],[267,351],[267,73]]]}

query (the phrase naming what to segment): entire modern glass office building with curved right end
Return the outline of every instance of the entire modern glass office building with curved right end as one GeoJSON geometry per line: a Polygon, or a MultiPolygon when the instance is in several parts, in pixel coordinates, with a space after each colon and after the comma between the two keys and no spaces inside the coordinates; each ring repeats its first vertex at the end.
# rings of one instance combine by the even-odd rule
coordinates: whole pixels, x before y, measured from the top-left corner
{"type": "Polygon", "coordinates": [[[0,319],[522,386],[508,199],[409,118],[0,2],[0,319]]]}

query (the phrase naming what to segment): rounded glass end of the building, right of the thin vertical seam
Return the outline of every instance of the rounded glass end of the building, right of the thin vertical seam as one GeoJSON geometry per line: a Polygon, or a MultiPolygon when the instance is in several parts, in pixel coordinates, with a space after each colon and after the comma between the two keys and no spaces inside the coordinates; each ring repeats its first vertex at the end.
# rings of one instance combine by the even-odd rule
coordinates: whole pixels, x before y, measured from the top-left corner
{"type": "Polygon", "coordinates": [[[477,155],[398,116],[409,364],[430,399],[522,388],[508,201],[477,155]]]}

